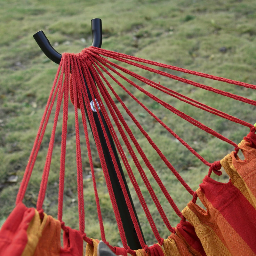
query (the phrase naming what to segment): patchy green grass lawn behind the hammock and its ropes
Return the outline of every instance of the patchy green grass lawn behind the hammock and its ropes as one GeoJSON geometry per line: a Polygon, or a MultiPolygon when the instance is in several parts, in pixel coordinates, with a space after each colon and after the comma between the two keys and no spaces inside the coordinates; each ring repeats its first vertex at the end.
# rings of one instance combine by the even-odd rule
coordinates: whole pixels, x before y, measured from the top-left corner
{"type": "MultiPolygon", "coordinates": [[[[102,48],[135,55],[141,58],[159,61],[182,68],[205,72],[216,76],[227,77],[250,84],[256,83],[255,37],[256,7],[254,1],[195,1],[195,0],[111,0],[111,1],[69,1],[69,0],[11,0],[1,1],[0,15],[0,223],[15,206],[15,196],[24,173],[30,150],[43,115],[48,94],[57,71],[57,65],[47,59],[33,39],[33,34],[43,30],[58,52],[80,52],[92,42],[90,20],[102,19],[102,48]],[[17,182],[10,183],[8,178],[18,176],[17,182]]],[[[174,75],[193,79],[200,83],[238,93],[241,96],[256,100],[256,93],[251,90],[229,86],[216,81],[205,81],[202,77],[189,76],[172,71],[174,75]]],[[[243,103],[234,103],[210,92],[195,89],[188,84],[170,81],[166,77],[158,77],[141,71],[141,75],[170,86],[173,90],[193,96],[212,107],[235,115],[254,124],[255,107],[243,103]]],[[[133,89],[132,89],[133,90],[133,89]]],[[[161,95],[148,89],[157,97],[161,95]]],[[[135,113],[141,124],[166,156],[172,159],[173,166],[181,176],[196,189],[208,172],[192,155],[177,143],[163,129],[153,123],[145,112],[128,100],[124,92],[116,88],[125,104],[135,113]]],[[[180,137],[195,148],[207,161],[221,159],[233,148],[225,143],[206,136],[191,124],[183,122],[179,117],[159,108],[155,102],[139,91],[133,90],[154,113],[172,127],[180,137]]],[[[213,118],[203,112],[188,108],[177,100],[164,98],[181,111],[203,121],[216,131],[238,143],[247,134],[248,129],[213,118]]],[[[75,128],[72,108],[70,108],[67,141],[67,172],[64,197],[63,219],[72,228],[78,228],[77,195],[76,195],[76,163],[75,163],[75,128]]],[[[45,134],[42,148],[36,161],[31,182],[24,202],[35,207],[39,184],[43,171],[48,140],[51,135],[52,119],[45,134]]],[[[138,129],[132,126],[132,132],[143,146],[145,154],[159,173],[180,210],[191,196],[182,189],[170,171],[159,161],[156,152],[148,147],[145,138],[138,129]]],[[[44,202],[44,210],[57,216],[58,200],[58,168],[60,152],[61,126],[57,127],[56,146],[52,159],[52,171],[44,202]]],[[[94,203],[94,193],[90,180],[89,159],[86,156],[86,145],[82,144],[84,167],[84,193],[86,206],[86,233],[88,236],[100,238],[99,224],[94,203]]],[[[95,145],[92,145],[95,166],[99,164],[95,145]]],[[[141,164],[142,161],[141,161],[141,164]]],[[[132,168],[135,166],[131,163],[132,168]]],[[[144,166],[145,167],[145,166],[144,166]]],[[[147,168],[145,171],[148,172],[147,168]]],[[[155,188],[152,177],[150,183],[155,188]]],[[[137,177],[139,182],[140,178],[137,177]]],[[[221,181],[226,180],[223,175],[221,181]]],[[[113,245],[120,245],[117,226],[112,214],[110,201],[102,171],[97,172],[102,214],[106,228],[107,240],[113,245]]],[[[129,183],[130,186],[130,183],[129,183]]],[[[159,225],[161,236],[167,237],[167,231],[159,220],[159,214],[153,207],[147,189],[142,193],[148,200],[150,211],[159,225]]],[[[155,188],[156,189],[156,188],[155,188]]],[[[157,195],[162,202],[161,194],[157,195]]],[[[139,218],[145,215],[136,201],[135,192],[131,189],[139,218]]],[[[162,203],[172,226],[176,226],[179,218],[170,210],[168,204],[162,203]]],[[[141,226],[148,244],[155,243],[155,238],[146,221],[141,226]]]]}

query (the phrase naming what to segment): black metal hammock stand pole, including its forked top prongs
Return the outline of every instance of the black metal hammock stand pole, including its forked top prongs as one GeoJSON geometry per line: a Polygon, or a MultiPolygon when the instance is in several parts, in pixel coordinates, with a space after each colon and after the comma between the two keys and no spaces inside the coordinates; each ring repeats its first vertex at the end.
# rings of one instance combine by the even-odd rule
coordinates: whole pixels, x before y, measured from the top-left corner
{"type": "MultiPolygon", "coordinates": [[[[92,35],[93,35],[92,36],[92,38],[93,38],[92,39],[92,46],[100,48],[101,47],[101,43],[102,43],[102,27],[101,27],[101,20],[100,19],[93,19],[92,20],[92,35]]],[[[50,44],[49,40],[47,39],[47,37],[44,35],[44,32],[43,31],[37,32],[34,35],[34,38],[36,40],[36,43],[41,48],[41,50],[45,53],[45,55],[50,60],[54,61],[57,64],[60,64],[61,54],[54,50],[54,48],[51,46],[51,44],[50,44]]],[[[83,78],[84,78],[84,85],[85,85],[85,88],[87,90],[88,98],[89,98],[89,101],[91,102],[92,101],[92,95],[89,92],[89,88],[87,86],[87,83],[86,83],[84,75],[83,75],[83,78]]],[[[89,120],[88,113],[87,113],[86,107],[85,107],[85,103],[84,103],[84,109],[85,109],[85,114],[87,116],[87,119],[89,120]]],[[[118,177],[117,177],[117,174],[116,174],[116,170],[115,170],[115,166],[114,166],[113,161],[111,159],[110,151],[109,151],[109,148],[108,148],[108,145],[107,145],[106,138],[104,136],[103,130],[101,128],[100,119],[99,119],[98,114],[100,114],[100,116],[101,116],[102,123],[104,125],[104,129],[105,129],[105,131],[107,133],[108,140],[109,140],[110,145],[111,145],[111,150],[113,150],[113,153],[114,153],[117,165],[118,165],[118,169],[119,169],[119,171],[121,173],[121,176],[122,176],[122,179],[124,181],[124,185],[125,185],[126,191],[128,193],[129,199],[130,199],[131,204],[132,204],[133,211],[135,213],[136,219],[137,219],[139,227],[140,227],[140,222],[139,222],[139,219],[138,219],[138,216],[137,216],[134,204],[132,202],[132,197],[131,197],[131,194],[130,194],[130,191],[129,191],[129,188],[128,188],[128,185],[127,185],[127,182],[126,182],[126,179],[125,179],[125,176],[124,176],[124,172],[123,172],[123,169],[122,169],[122,166],[121,166],[121,163],[120,163],[117,151],[116,151],[116,147],[115,147],[113,138],[111,136],[111,133],[110,133],[110,131],[108,129],[106,121],[105,121],[102,113],[100,112],[100,110],[98,110],[97,112],[92,111],[92,113],[93,113],[93,118],[95,120],[95,124],[96,124],[96,127],[97,127],[97,132],[99,134],[100,144],[101,144],[101,147],[102,147],[102,150],[103,150],[103,154],[104,154],[104,157],[105,157],[105,161],[106,161],[109,177],[110,177],[110,180],[111,180],[111,185],[112,185],[113,192],[114,192],[114,195],[115,195],[115,198],[116,198],[116,203],[117,203],[118,211],[120,213],[120,217],[121,217],[122,224],[123,224],[123,227],[124,227],[124,232],[125,232],[125,236],[126,236],[126,239],[127,239],[127,244],[129,245],[129,247],[132,250],[141,249],[140,241],[139,241],[138,235],[137,235],[137,233],[135,231],[135,228],[134,228],[134,225],[133,225],[133,222],[132,222],[132,218],[130,216],[130,212],[129,212],[128,206],[127,206],[127,204],[125,202],[124,193],[122,191],[120,182],[118,180],[118,177]]],[[[90,126],[91,126],[91,124],[90,124],[90,126]]],[[[92,127],[91,127],[91,129],[92,129],[92,127]]],[[[143,236],[141,227],[140,227],[140,231],[141,231],[142,237],[143,237],[144,242],[145,242],[145,238],[143,236]]]]}

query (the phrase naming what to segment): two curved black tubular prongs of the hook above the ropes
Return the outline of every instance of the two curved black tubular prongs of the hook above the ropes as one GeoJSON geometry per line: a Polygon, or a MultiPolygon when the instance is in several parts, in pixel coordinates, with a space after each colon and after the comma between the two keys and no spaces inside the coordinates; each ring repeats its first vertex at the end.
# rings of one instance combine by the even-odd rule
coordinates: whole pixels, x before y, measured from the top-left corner
{"type": "MultiPolygon", "coordinates": [[[[101,19],[92,19],[92,46],[101,47],[102,44],[102,25],[101,19]]],[[[44,54],[53,62],[60,64],[61,54],[54,50],[50,44],[44,32],[41,30],[37,32],[34,36],[36,43],[39,45],[44,54]]]]}

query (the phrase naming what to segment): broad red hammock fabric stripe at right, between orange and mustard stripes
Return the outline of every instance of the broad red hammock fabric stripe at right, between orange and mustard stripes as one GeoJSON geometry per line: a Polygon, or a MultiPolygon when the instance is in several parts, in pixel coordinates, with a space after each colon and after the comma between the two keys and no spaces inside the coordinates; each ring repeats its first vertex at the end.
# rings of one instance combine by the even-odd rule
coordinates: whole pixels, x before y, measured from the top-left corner
{"type": "Polygon", "coordinates": [[[200,189],[245,243],[256,253],[256,210],[231,181],[220,183],[206,176],[200,189]]]}

